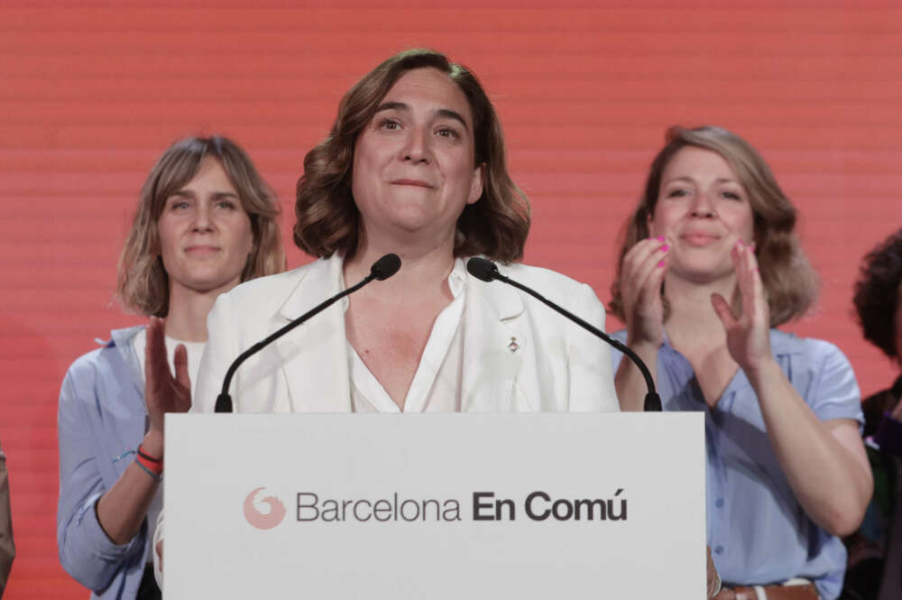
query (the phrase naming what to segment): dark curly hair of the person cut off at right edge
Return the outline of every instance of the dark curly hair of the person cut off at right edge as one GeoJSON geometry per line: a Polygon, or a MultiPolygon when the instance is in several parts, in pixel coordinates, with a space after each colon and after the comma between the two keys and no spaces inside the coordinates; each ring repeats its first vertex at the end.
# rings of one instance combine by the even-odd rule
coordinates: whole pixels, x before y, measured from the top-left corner
{"type": "Polygon", "coordinates": [[[864,338],[890,358],[898,357],[896,314],[902,283],[902,229],[890,235],[861,262],[855,283],[855,311],[864,338]]]}

